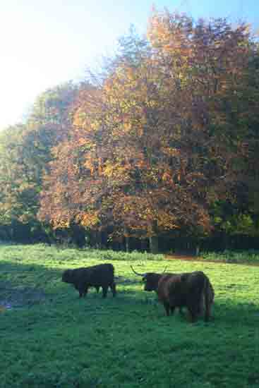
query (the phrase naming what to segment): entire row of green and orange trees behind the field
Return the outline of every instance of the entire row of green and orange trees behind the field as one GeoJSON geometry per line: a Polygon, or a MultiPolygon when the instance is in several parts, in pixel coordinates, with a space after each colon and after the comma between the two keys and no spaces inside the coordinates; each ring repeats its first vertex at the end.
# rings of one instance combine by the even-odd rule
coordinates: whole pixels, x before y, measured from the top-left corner
{"type": "Polygon", "coordinates": [[[246,24],[154,11],[42,93],[0,134],[0,239],[258,248],[258,47],[246,24]]]}

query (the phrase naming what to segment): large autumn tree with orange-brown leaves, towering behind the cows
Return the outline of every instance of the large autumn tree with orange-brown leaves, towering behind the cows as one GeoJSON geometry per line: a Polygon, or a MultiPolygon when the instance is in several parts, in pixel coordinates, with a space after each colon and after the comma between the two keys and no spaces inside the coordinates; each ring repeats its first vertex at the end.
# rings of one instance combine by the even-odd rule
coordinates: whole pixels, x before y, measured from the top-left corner
{"type": "Polygon", "coordinates": [[[165,231],[210,231],[210,206],[243,179],[258,99],[246,25],[154,13],[147,37],[122,40],[109,68],[79,93],[40,217],[148,237],[155,252],[165,231]],[[245,96],[253,101],[243,107],[245,96]]]}

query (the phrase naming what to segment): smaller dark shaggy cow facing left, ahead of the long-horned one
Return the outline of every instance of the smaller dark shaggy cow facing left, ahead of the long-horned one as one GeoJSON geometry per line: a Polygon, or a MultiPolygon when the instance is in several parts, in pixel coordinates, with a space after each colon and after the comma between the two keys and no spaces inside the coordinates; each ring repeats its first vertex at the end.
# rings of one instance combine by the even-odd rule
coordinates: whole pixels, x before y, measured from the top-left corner
{"type": "Polygon", "coordinates": [[[95,287],[96,291],[102,287],[102,296],[106,298],[108,287],[116,295],[114,283],[114,266],[112,264],[93,265],[76,269],[66,269],[62,275],[62,281],[71,283],[79,292],[79,297],[88,293],[89,287],[95,287]]]}

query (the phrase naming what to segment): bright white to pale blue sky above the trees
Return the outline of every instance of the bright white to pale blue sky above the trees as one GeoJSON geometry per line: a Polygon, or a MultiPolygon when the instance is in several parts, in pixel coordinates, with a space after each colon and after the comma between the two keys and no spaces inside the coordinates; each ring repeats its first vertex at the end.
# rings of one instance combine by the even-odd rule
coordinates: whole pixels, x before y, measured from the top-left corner
{"type": "Polygon", "coordinates": [[[154,5],[259,29],[259,0],[0,0],[0,130],[23,121],[44,90],[83,80],[131,24],[145,34],[154,5]]]}

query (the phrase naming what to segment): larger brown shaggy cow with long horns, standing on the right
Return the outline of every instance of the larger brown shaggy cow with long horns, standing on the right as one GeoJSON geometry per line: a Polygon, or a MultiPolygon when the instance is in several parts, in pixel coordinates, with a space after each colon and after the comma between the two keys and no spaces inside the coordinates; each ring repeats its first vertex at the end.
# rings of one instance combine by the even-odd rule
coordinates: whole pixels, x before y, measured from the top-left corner
{"type": "Polygon", "coordinates": [[[205,321],[209,320],[211,305],[214,301],[214,290],[210,280],[203,272],[185,274],[147,272],[138,275],[143,277],[145,291],[157,292],[158,299],[164,305],[167,315],[170,314],[170,311],[173,314],[176,307],[180,310],[186,307],[191,315],[191,322],[194,322],[203,313],[205,321]]]}

